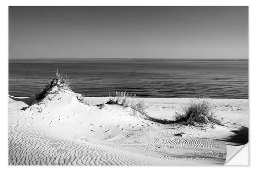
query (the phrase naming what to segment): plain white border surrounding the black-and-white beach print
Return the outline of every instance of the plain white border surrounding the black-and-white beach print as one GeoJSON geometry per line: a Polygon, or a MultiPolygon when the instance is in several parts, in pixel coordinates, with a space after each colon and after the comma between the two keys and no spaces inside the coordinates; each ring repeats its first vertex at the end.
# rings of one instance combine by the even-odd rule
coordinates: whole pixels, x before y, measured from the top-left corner
{"type": "MultiPolygon", "coordinates": [[[[256,73],[257,73],[257,63],[256,63],[256,18],[257,18],[257,8],[256,8],[256,1],[140,1],[140,0],[130,0],[130,1],[31,1],[31,0],[23,0],[23,1],[1,1],[0,6],[0,12],[1,12],[1,75],[2,75],[2,83],[1,86],[1,168],[2,170],[13,170],[13,169],[26,169],[26,170],[45,170],[45,169],[54,169],[54,170],[67,170],[67,169],[92,169],[92,170],[98,170],[98,169],[111,169],[111,170],[131,170],[131,169],[148,169],[148,170],[156,170],[156,169],[190,169],[190,170],[216,170],[216,169],[233,169],[233,170],[240,170],[242,171],[245,169],[256,167],[256,162],[254,162],[255,158],[250,157],[250,167],[234,167],[234,166],[219,166],[219,167],[201,167],[201,166],[172,166],[172,167],[78,167],[78,166],[71,166],[71,167],[56,167],[56,166],[8,166],[8,102],[7,102],[7,95],[8,95],[8,5],[249,5],[249,99],[250,99],[250,144],[251,148],[251,156],[254,154],[254,151],[256,150],[256,121],[257,121],[257,110],[256,110],[256,103],[257,103],[257,85],[256,85],[256,73]],[[253,134],[251,134],[253,132],[253,134]],[[251,160],[253,158],[253,160],[251,160]]],[[[242,156],[244,158],[246,156],[242,156]]]]}

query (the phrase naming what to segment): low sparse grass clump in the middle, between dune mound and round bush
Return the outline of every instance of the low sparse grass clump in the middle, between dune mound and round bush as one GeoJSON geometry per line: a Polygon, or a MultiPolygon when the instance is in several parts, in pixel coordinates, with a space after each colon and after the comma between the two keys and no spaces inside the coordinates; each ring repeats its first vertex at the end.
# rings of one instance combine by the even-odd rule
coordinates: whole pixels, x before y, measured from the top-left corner
{"type": "Polygon", "coordinates": [[[143,112],[146,106],[143,100],[139,101],[136,98],[136,95],[130,96],[126,91],[116,91],[115,97],[110,97],[106,104],[118,104],[124,107],[131,107],[138,112],[143,112]]]}

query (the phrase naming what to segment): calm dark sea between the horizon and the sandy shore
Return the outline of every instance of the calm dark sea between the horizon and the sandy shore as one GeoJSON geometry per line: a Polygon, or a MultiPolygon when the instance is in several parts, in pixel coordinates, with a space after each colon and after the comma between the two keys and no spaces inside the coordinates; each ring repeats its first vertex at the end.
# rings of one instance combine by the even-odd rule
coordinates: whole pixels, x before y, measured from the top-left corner
{"type": "Polygon", "coordinates": [[[127,91],[139,97],[248,99],[248,60],[10,59],[9,94],[39,93],[56,68],[85,96],[127,91]]]}

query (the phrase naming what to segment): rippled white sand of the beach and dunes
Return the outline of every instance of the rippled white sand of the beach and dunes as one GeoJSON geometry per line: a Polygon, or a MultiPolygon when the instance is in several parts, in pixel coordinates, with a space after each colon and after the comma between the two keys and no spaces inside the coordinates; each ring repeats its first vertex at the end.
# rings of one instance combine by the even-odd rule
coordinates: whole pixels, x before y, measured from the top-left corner
{"type": "MultiPolygon", "coordinates": [[[[134,115],[131,108],[96,106],[107,97],[85,99],[90,105],[80,103],[75,93],[60,93],[22,111],[26,98],[9,98],[9,165],[223,164],[226,143],[221,140],[238,125],[248,126],[248,100],[242,99],[212,100],[228,127],[162,125],[134,115]]],[[[189,100],[141,99],[150,116],[166,119],[189,100]]]]}

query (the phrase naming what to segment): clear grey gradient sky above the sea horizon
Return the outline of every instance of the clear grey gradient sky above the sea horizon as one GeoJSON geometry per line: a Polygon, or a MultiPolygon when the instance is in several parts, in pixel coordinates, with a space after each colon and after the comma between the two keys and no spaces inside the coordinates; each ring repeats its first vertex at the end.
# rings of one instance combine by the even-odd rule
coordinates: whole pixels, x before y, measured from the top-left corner
{"type": "Polygon", "coordinates": [[[10,6],[9,58],[248,58],[247,6],[10,6]]]}

